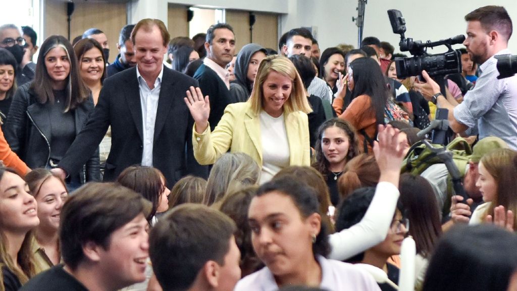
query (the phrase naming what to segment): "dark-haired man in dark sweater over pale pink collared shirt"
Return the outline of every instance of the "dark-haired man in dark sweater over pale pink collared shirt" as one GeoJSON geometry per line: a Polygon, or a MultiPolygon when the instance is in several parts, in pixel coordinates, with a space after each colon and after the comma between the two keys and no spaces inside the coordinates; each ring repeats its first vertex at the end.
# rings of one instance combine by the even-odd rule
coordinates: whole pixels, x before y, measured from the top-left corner
{"type": "Polygon", "coordinates": [[[206,32],[206,57],[194,74],[203,94],[210,98],[210,130],[214,130],[227,105],[238,100],[230,96],[230,73],[226,70],[235,54],[235,34],[226,23],[210,26],[206,32]]]}

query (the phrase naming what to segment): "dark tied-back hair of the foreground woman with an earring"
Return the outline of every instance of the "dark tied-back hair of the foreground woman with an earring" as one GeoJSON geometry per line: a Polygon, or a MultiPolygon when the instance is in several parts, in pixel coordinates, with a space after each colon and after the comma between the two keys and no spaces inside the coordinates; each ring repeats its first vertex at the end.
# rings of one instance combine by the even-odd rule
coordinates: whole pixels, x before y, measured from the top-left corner
{"type": "MultiPolygon", "coordinates": [[[[313,213],[319,213],[320,205],[314,188],[305,183],[293,180],[292,177],[281,177],[262,184],[255,194],[256,197],[264,196],[270,192],[280,192],[293,200],[294,205],[302,218],[307,218],[313,213]]],[[[322,255],[326,257],[330,252],[328,236],[325,224],[321,224],[320,233],[316,236],[316,242],[312,244],[314,257],[322,255]]]]}

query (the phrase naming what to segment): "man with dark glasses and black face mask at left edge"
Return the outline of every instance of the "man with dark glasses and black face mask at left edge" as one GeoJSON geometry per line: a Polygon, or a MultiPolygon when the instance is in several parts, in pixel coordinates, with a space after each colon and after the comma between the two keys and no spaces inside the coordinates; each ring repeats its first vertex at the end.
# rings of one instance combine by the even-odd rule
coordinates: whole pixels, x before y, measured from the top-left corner
{"type": "Polygon", "coordinates": [[[20,33],[18,26],[4,24],[0,26],[0,48],[4,48],[14,55],[18,63],[16,72],[16,83],[21,86],[34,79],[34,69],[27,66],[31,62],[31,52],[25,49],[25,39],[20,33]]]}

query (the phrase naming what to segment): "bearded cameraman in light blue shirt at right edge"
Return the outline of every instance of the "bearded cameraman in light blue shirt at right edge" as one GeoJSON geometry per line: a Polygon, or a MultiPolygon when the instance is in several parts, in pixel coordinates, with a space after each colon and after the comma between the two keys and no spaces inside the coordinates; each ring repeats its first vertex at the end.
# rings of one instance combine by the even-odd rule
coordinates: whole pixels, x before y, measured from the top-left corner
{"type": "Polygon", "coordinates": [[[474,89],[458,104],[452,96],[442,95],[439,85],[425,71],[422,75],[427,83],[415,84],[415,88],[439,108],[449,110],[449,126],[455,133],[478,125],[479,139],[497,136],[517,150],[517,76],[498,80],[494,57],[510,53],[512,21],[501,6],[478,8],[468,13],[465,20],[467,38],[463,45],[480,70],[474,89]]]}

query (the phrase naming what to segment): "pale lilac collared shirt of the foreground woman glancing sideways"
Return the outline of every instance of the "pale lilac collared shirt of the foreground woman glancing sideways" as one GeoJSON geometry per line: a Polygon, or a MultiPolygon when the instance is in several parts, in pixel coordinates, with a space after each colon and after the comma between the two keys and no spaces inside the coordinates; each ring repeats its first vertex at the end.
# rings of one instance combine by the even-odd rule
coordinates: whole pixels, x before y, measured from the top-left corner
{"type": "MultiPolygon", "coordinates": [[[[364,270],[342,261],[326,259],[318,256],[322,267],[322,282],[320,288],[329,291],[361,291],[381,290],[373,277],[364,270]]],[[[242,278],[235,285],[234,291],[276,291],[277,282],[267,267],[242,278]]]]}

